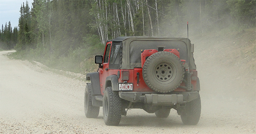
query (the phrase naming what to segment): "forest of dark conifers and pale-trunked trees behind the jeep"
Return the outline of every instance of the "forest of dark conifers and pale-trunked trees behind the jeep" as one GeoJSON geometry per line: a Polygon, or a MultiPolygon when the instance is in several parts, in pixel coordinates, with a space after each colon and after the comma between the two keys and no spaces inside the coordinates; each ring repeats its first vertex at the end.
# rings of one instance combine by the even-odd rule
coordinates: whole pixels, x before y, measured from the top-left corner
{"type": "Polygon", "coordinates": [[[21,4],[18,27],[2,25],[0,48],[19,59],[85,74],[107,40],[186,37],[256,27],[256,0],[34,0],[21,4]]]}

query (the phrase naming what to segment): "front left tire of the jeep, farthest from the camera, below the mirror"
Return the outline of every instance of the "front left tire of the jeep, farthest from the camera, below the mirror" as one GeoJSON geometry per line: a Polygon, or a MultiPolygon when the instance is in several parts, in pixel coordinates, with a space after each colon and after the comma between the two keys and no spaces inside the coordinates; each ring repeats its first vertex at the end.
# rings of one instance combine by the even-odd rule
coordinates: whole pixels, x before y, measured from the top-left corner
{"type": "Polygon", "coordinates": [[[99,107],[92,104],[90,83],[87,83],[84,91],[84,113],[87,118],[97,118],[99,115],[99,107]]]}

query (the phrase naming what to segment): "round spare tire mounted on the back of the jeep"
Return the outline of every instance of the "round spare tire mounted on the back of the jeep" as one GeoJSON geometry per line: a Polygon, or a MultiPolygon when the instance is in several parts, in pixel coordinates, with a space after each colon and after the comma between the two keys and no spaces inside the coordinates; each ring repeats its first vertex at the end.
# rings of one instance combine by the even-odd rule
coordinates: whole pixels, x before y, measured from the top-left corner
{"type": "Polygon", "coordinates": [[[168,51],[160,51],[148,57],[143,65],[143,79],[154,91],[174,91],[182,83],[185,69],[179,57],[168,51]]]}

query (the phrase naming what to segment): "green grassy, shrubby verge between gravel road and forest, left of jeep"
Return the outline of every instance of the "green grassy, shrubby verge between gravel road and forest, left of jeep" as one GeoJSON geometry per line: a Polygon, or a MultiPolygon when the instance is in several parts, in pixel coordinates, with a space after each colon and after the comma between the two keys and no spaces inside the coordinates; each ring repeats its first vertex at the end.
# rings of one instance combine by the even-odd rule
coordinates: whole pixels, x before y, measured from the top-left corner
{"type": "Polygon", "coordinates": [[[87,49],[78,48],[70,51],[67,56],[51,54],[46,49],[29,49],[16,51],[7,56],[16,60],[27,60],[35,66],[55,74],[76,78],[85,81],[88,72],[97,71],[98,65],[94,63],[94,56],[103,53],[105,46],[102,44],[87,49]],[[93,54],[93,55],[89,55],[93,54]]]}

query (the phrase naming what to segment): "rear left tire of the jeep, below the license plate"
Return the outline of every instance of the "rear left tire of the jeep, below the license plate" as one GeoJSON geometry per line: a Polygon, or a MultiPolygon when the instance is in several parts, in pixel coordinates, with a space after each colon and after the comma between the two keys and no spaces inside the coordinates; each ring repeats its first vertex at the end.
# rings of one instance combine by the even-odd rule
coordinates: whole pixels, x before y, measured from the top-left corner
{"type": "Polygon", "coordinates": [[[103,96],[103,119],[106,125],[119,125],[121,120],[121,98],[118,92],[107,87],[103,96]]]}

